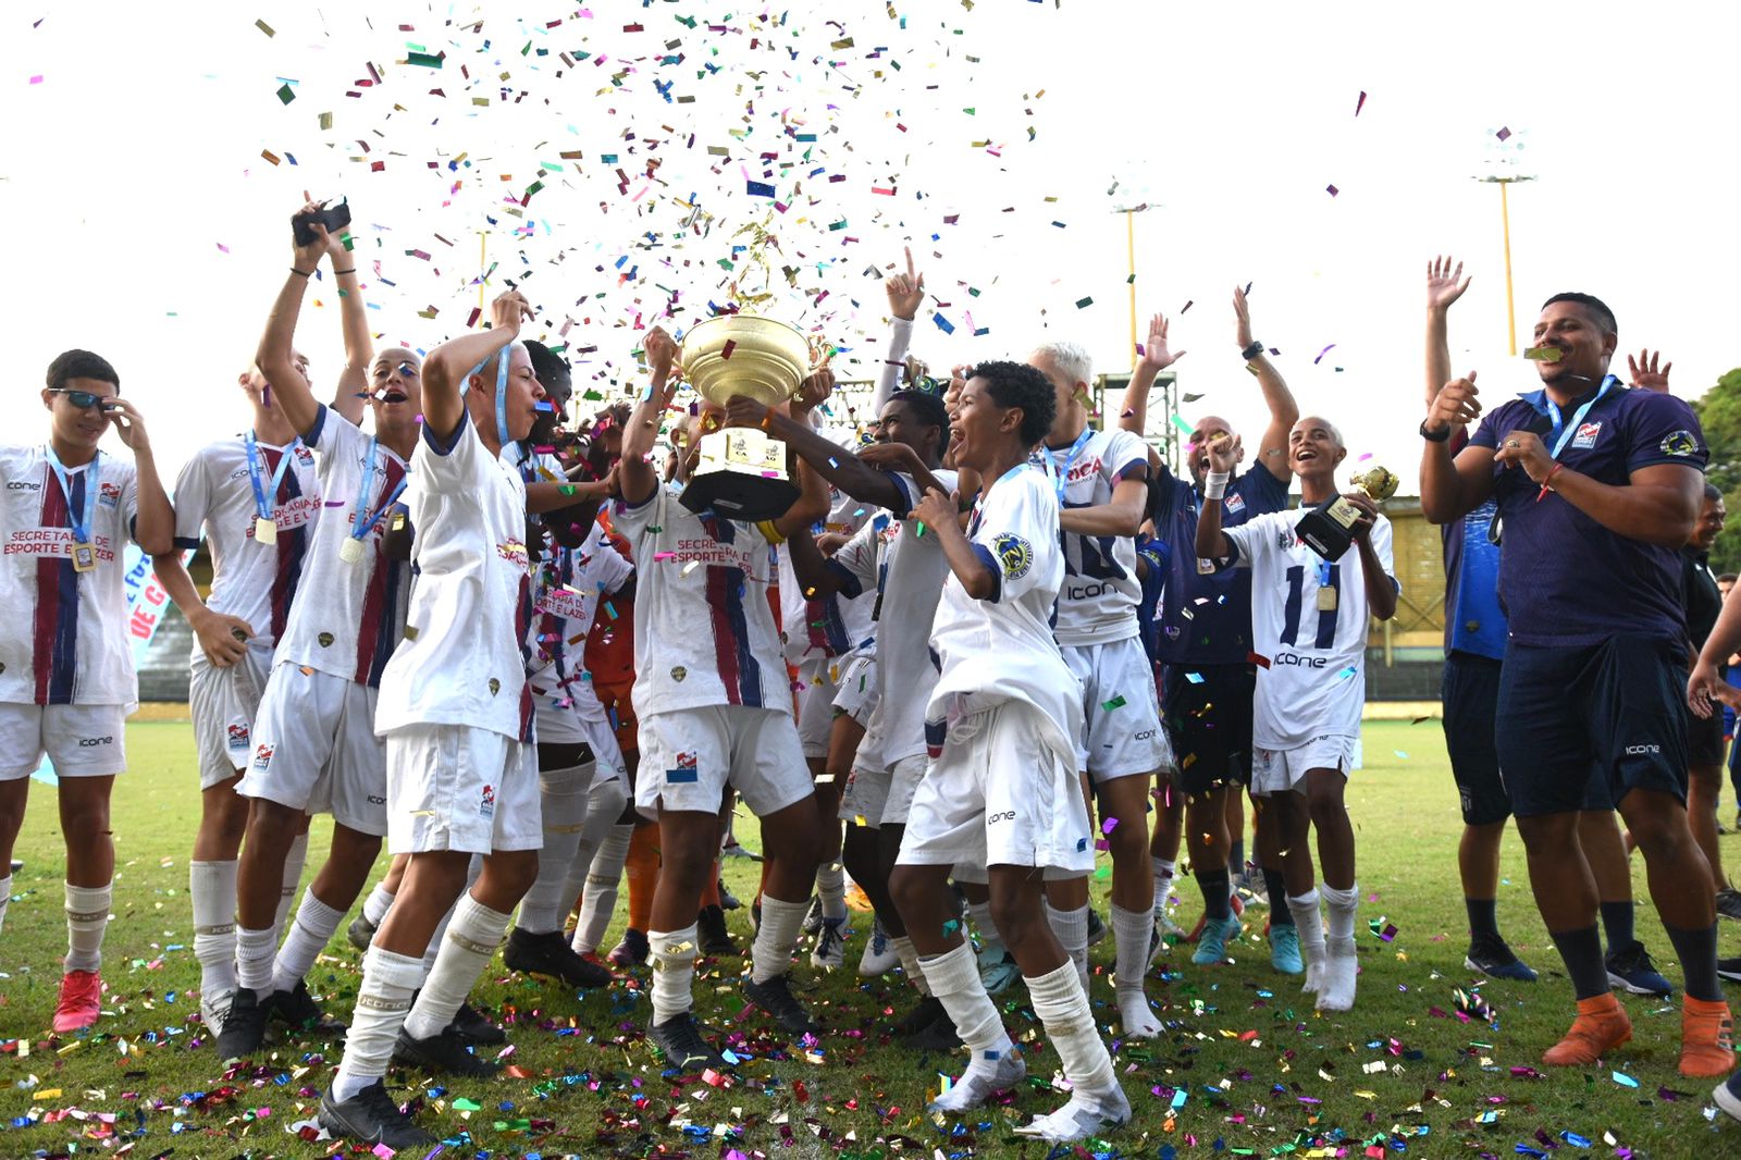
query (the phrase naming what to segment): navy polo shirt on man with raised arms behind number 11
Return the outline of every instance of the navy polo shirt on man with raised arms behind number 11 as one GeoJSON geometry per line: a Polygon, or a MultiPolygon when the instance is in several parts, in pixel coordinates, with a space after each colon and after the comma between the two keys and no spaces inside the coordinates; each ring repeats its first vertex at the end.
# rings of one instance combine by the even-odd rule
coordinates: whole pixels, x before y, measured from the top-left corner
{"type": "MultiPolygon", "coordinates": [[[[1252,655],[1252,570],[1198,559],[1198,489],[1161,463],[1149,488],[1154,533],[1172,547],[1156,658],[1170,665],[1245,664],[1252,655]]],[[[1222,528],[1238,528],[1254,516],[1288,505],[1288,486],[1252,463],[1227,484],[1220,500],[1222,528]]]]}

